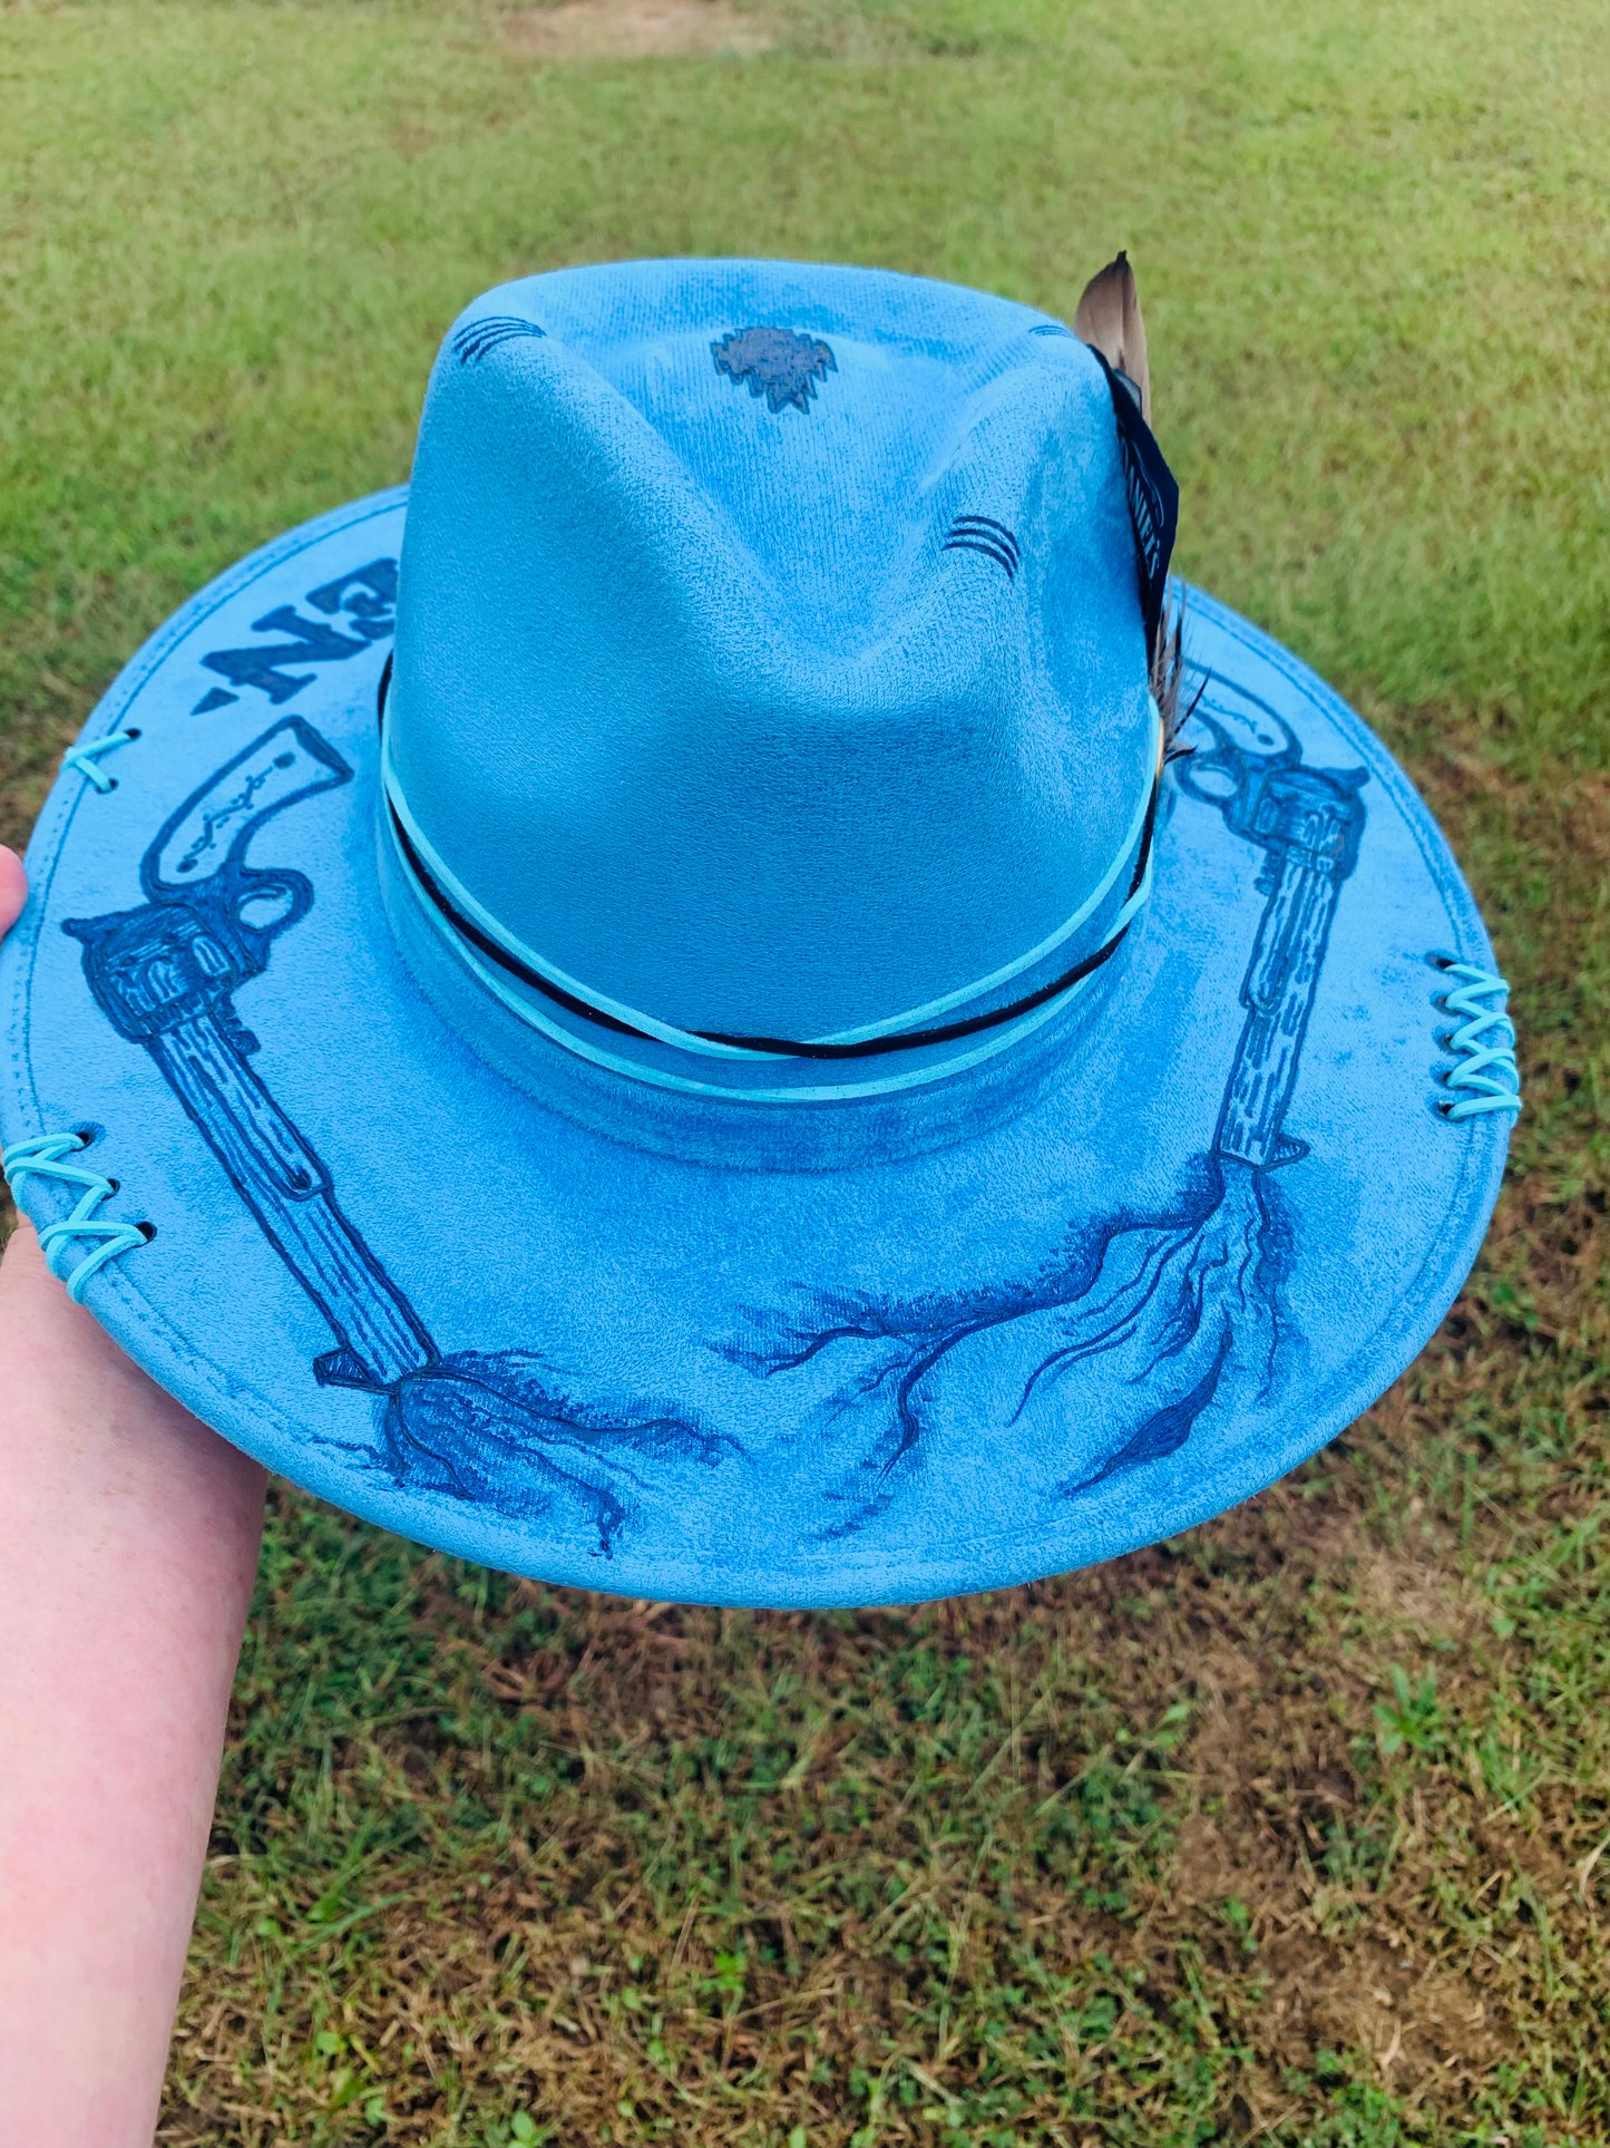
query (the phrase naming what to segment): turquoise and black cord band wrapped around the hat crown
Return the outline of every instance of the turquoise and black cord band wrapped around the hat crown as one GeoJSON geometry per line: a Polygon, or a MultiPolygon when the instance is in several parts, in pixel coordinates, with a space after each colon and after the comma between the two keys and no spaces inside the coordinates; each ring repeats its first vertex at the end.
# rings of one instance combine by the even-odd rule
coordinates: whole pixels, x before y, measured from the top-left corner
{"type": "Polygon", "coordinates": [[[457,960],[470,971],[470,975],[498,999],[511,1014],[522,1022],[537,1029],[552,1042],[565,1046],[565,1050],[575,1053],[582,1059],[592,1061],[610,1072],[627,1074],[635,1080],[655,1083],[657,1087],[678,1089],[691,1095],[713,1095],[728,1098],[734,1102],[756,1102],[756,1104],[779,1104],[779,1102],[848,1102],[867,1095],[889,1095],[899,1089],[912,1089],[919,1085],[945,1080],[951,1074],[962,1074],[983,1059],[996,1057],[996,1053],[1007,1050],[1022,1037],[1033,1035],[1052,1016],[1056,1016],[1082,986],[1118,952],[1129,926],[1136,921],[1140,911],[1151,896],[1153,885],[1153,836],[1157,823],[1157,801],[1161,786],[1161,715],[1153,702],[1153,778],[1146,793],[1136,806],[1136,812],[1125,829],[1123,842],[1114,853],[1110,866],[1101,874],[1095,889],[1084,898],[1084,902],[1067,917],[1054,932],[1030,947],[1026,954],[1011,962],[1000,964],[987,977],[979,977],[966,986],[957,986],[938,999],[927,1001],[921,1007],[910,1007],[902,1014],[887,1016],[880,1022],[867,1022],[859,1029],[837,1031],[826,1037],[809,1040],[786,1040],[786,1037],[749,1037],[730,1035],[717,1031],[689,1031],[672,1022],[663,1022],[657,1016],[644,1014],[638,1007],[629,1007],[623,1001],[610,999],[603,992],[592,990],[580,979],[567,975],[554,962],[543,960],[522,941],[517,941],[477,898],[457,881],[451,866],[440,857],[429,838],[423,833],[419,821],[408,808],[408,801],[397,782],[397,773],[391,765],[391,754],[386,748],[386,683],[380,683],[380,780],[386,801],[386,829],[395,848],[395,855],[404,868],[404,885],[410,889],[416,909],[427,917],[434,932],[447,943],[447,947],[457,956],[457,960]],[[998,992],[1002,986],[1011,984],[1037,967],[1041,967],[1058,947],[1063,947],[1082,926],[1099,913],[1108,902],[1118,879],[1125,870],[1129,872],[1129,887],[1125,900],[1101,937],[1099,945],[1082,956],[1071,969],[1041,984],[1037,990],[1009,1001],[1000,1007],[990,1007],[985,1012],[962,1016],[951,1022],[936,1022],[936,1016],[951,1014],[957,1007],[977,1003],[990,992],[998,992]],[[502,973],[502,975],[498,975],[502,973]],[[535,1005],[519,990],[511,988],[511,982],[539,992],[556,1010],[577,1016],[588,1025],[610,1029],[623,1037],[635,1037],[646,1044],[670,1046],[678,1053],[691,1053],[704,1059],[723,1059],[728,1063],[738,1061],[747,1065],[777,1065],[779,1061],[794,1061],[801,1072],[814,1061],[852,1061],[872,1059],[889,1053],[910,1053],[930,1050],[942,1044],[962,1042],[966,1037],[985,1035],[985,1042],[951,1055],[947,1059],[930,1061],[921,1068],[912,1068],[902,1074],[884,1076],[878,1080],[861,1083],[831,1083],[831,1085],[790,1085],[786,1089],[743,1089],[728,1087],[706,1080],[696,1080],[685,1074],[676,1074],[668,1068],[653,1065],[640,1059],[627,1059],[620,1053],[601,1050],[586,1035],[565,1027],[554,1014],[535,1005]]]}

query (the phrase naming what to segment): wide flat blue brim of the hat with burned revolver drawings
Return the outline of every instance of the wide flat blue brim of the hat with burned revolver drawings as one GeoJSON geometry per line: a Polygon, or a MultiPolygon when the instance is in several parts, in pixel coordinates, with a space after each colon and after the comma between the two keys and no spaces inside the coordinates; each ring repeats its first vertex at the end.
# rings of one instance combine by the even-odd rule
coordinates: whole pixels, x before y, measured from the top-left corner
{"type": "MultiPolygon", "coordinates": [[[[895,1162],[719,1169],[543,1108],[399,960],[376,683],[404,509],[391,492],[324,516],[187,604],[82,745],[137,737],[64,767],[28,851],[0,956],[4,1138],[86,1130],[79,1160],[116,1181],[94,1216],[155,1224],[84,1302],[163,1388],[444,1551],[816,1607],[1000,1587],[1174,1536],[1404,1370],[1503,1173],[1507,1115],[1445,1111],[1436,967],[1492,956],[1410,782],[1309,670],[1187,593],[1196,795],[1170,778],[1151,906],[1026,1108],[895,1162]],[[234,662],[208,666],[219,651],[234,662]],[[258,825],[275,726],[298,788],[258,825]],[[1305,771],[1305,821],[1290,784],[1249,806],[1277,763],[1305,771]],[[174,816],[232,765],[189,870],[251,827],[251,866],[288,876],[260,919],[283,930],[176,1072],[84,956],[97,921],[144,904],[150,932],[118,945],[148,960],[116,992],[159,997],[182,904],[148,902],[150,876],[185,863],[174,816]],[[343,1383],[339,1323],[365,1293],[419,1340],[386,1394],[343,1383]]],[[[79,1196],[17,1177],[41,1227],[79,1196]]],[[[54,1239],[58,1269],[94,1244],[54,1239]]]]}

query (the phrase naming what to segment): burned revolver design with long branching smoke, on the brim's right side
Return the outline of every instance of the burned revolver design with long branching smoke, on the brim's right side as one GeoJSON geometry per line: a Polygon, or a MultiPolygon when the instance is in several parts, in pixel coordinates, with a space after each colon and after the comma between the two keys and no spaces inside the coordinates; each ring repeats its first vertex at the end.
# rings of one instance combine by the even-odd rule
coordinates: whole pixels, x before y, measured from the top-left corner
{"type": "Polygon", "coordinates": [[[1191,1437],[1219,1390],[1269,1392],[1290,1216],[1273,1173],[1307,1156],[1284,1132],[1342,883],[1359,859],[1363,769],[1303,767],[1290,726],[1249,754],[1217,720],[1213,679],[1196,722],[1209,745],[1181,763],[1187,797],[1219,810],[1260,853],[1264,896],[1241,979],[1245,1020],[1209,1153],[1163,1214],[1114,1214],[1069,1233],[1039,1274],[972,1293],[889,1304],[820,1293],[796,1321],[758,1315],[758,1342],[730,1355],[764,1379],[850,1358],[826,1398],[835,1424],[874,1413],[872,1439],[831,1497],[848,1534],[899,1489],[902,1463],[945,1422],[945,1385],[972,1375],[1020,1424],[1075,1368],[1101,1373],[1101,1435],[1056,1482],[1060,1497],[1161,1461],[1191,1437]]]}

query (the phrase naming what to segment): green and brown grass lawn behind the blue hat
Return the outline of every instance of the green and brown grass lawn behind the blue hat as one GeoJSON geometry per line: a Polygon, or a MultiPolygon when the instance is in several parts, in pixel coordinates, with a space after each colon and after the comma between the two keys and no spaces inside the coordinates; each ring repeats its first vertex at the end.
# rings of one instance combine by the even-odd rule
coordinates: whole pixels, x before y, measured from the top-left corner
{"type": "MultiPolygon", "coordinates": [[[[0,0],[0,836],[135,644],[401,479],[530,268],[1138,262],[1181,567],[1404,756],[1528,1080],[1346,1439],[917,1611],[545,1590],[277,1493],[182,2144],[1610,2142],[1610,37],[1601,0],[0,0]]],[[[1428,1136],[1430,1138],[1430,1136],[1428,1136]]]]}

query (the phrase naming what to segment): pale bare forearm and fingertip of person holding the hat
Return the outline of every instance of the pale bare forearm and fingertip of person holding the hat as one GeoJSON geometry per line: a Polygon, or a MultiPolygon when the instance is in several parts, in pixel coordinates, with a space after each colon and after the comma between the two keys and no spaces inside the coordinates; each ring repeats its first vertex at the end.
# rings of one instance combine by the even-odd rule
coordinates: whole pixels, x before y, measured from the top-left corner
{"type": "MultiPolygon", "coordinates": [[[[0,848],[0,937],[21,913],[0,848]]],[[[264,1474],[0,1261],[0,2142],[150,2148],[264,1474]]]]}

